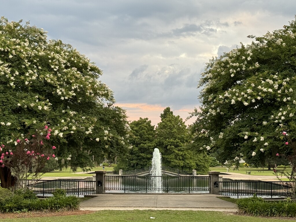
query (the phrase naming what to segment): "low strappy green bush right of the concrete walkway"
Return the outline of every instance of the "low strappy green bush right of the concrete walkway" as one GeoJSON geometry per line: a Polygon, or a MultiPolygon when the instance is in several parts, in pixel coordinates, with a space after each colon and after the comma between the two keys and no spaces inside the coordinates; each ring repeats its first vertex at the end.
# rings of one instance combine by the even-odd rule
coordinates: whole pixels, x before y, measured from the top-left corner
{"type": "Polygon", "coordinates": [[[264,201],[259,197],[237,200],[238,212],[252,216],[263,217],[295,217],[296,202],[294,201],[264,201]]]}

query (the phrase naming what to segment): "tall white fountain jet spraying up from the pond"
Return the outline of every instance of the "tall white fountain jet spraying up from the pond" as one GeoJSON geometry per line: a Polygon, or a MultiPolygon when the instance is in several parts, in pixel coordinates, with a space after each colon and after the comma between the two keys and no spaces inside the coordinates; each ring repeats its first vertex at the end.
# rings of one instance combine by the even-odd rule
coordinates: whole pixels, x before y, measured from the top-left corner
{"type": "Polygon", "coordinates": [[[162,193],[162,178],[161,178],[161,153],[155,148],[152,157],[152,168],[150,170],[152,176],[152,186],[157,193],[162,193]]]}

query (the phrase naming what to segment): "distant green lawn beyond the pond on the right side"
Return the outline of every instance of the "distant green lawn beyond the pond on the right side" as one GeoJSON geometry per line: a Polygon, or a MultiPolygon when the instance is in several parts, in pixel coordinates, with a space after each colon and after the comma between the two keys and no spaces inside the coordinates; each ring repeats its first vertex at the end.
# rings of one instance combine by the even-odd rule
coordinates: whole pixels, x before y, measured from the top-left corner
{"type": "MultiPolygon", "coordinates": [[[[283,170],[283,168],[278,168],[278,170],[283,170]]],[[[226,167],[210,167],[210,171],[219,171],[219,172],[226,172],[226,167]]],[[[250,175],[259,175],[259,176],[274,176],[274,171],[273,170],[268,170],[267,168],[255,168],[255,167],[240,167],[239,170],[232,170],[230,168],[229,173],[242,173],[242,174],[247,174],[247,172],[251,171],[250,175]]],[[[285,170],[288,172],[291,172],[290,169],[285,170]]]]}

